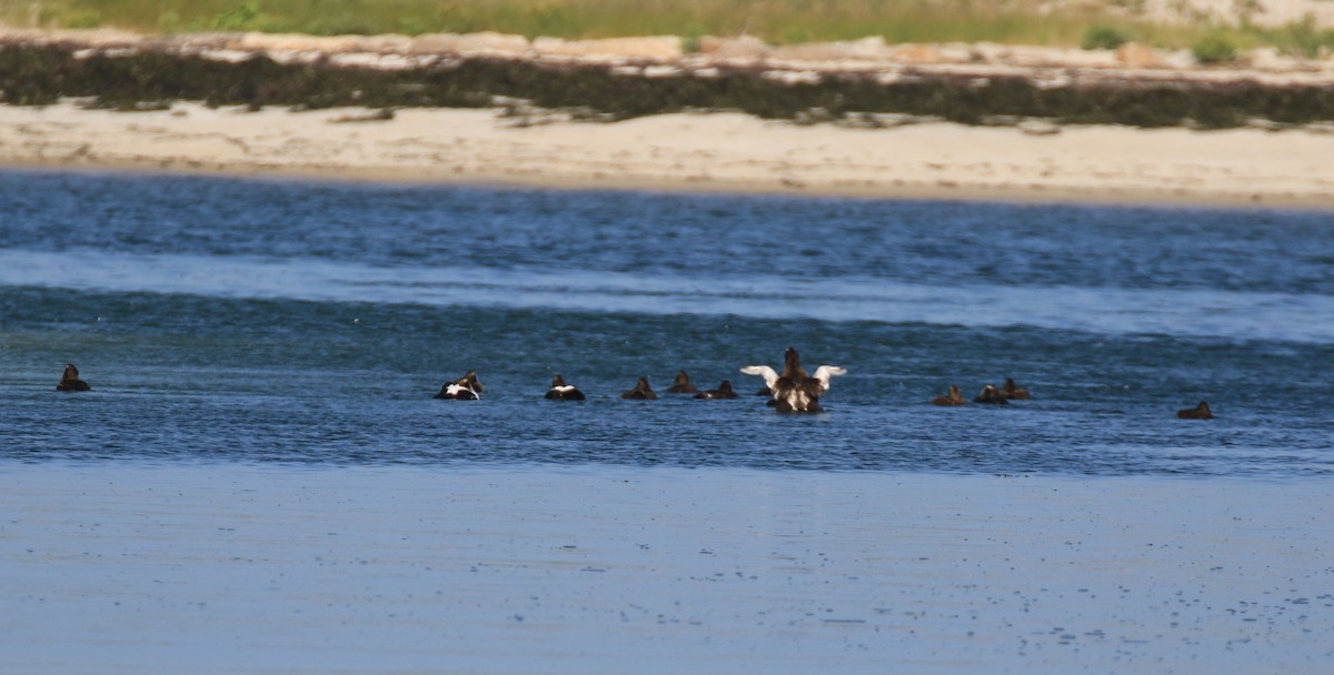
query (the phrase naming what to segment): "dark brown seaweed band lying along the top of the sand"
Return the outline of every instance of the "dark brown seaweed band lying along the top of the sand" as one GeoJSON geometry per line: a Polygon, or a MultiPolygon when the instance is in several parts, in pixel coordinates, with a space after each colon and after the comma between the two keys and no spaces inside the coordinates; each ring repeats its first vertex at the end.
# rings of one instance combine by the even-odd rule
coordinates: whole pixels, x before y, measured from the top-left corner
{"type": "Polygon", "coordinates": [[[572,118],[615,121],[682,111],[739,111],[771,120],[884,126],[914,120],[960,124],[1126,124],[1203,129],[1285,128],[1334,121],[1334,88],[1249,79],[1137,80],[916,72],[886,81],[874,73],[767,77],[762,67],[715,69],[708,77],[646,76],[596,64],[503,57],[440,57],[400,69],[320,57],[279,63],[264,53],[235,60],[167,51],[76,49],[0,44],[0,103],[155,109],[171,101],[288,107],[515,108],[575,111],[572,118]]]}

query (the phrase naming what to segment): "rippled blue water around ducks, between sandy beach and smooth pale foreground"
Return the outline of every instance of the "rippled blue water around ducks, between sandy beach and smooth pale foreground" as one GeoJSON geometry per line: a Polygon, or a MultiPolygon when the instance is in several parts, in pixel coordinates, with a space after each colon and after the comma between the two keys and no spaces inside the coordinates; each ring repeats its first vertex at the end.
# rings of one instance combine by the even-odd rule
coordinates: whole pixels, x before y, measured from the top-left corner
{"type": "Polygon", "coordinates": [[[0,173],[9,459],[1283,478],[1331,381],[1327,213],[0,173]],[[787,346],[826,414],[664,393],[787,346]]]}

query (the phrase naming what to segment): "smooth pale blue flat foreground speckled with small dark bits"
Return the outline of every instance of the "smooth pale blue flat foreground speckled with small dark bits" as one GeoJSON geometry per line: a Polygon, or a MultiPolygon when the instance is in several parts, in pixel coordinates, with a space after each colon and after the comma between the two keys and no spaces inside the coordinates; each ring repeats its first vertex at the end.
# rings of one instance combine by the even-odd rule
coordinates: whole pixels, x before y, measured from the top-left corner
{"type": "Polygon", "coordinates": [[[0,465],[12,672],[1325,672],[1325,481],[0,465]]]}

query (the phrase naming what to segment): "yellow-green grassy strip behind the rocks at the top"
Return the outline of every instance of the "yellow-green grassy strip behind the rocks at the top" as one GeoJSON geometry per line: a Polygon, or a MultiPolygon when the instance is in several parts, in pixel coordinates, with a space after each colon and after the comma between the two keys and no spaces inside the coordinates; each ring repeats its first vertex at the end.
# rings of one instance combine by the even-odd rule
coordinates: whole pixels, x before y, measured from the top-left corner
{"type": "Polygon", "coordinates": [[[1319,51],[1334,32],[1314,27],[1161,25],[1135,17],[1133,0],[7,0],[0,21],[141,32],[261,31],[311,35],[500,31],[566,39],[642,35],[752,35],[771,44],[850,40],[995,41],[1067,45],[1099,29],[1158,47],[1225,33],[1237,47],[1319,51]],[[1287,48],[1287,47],[1285,47],[1287,48]]]}

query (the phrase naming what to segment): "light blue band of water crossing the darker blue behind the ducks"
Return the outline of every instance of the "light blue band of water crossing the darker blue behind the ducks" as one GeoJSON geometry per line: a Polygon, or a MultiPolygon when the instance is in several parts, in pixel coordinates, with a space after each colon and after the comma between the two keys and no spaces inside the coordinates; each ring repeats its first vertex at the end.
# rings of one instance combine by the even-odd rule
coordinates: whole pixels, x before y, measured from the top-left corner
{"type": "Polygon", "coordinates": [[[0,250],[0,285],[320,302],[1035,326],[1334,341],[1334,297],[1205,289],[930,285],[775,274],[376,266],[319,258],[0,250]]]}

